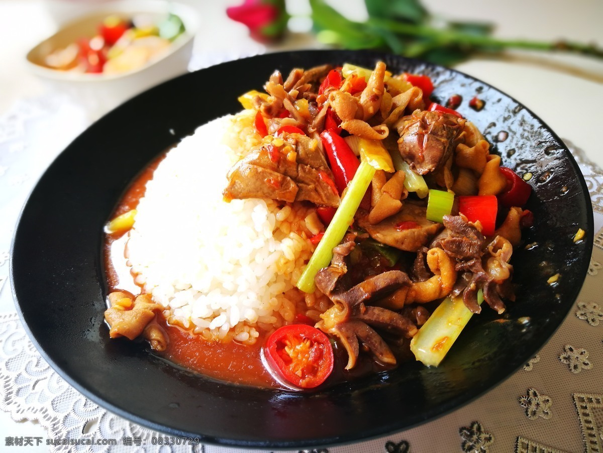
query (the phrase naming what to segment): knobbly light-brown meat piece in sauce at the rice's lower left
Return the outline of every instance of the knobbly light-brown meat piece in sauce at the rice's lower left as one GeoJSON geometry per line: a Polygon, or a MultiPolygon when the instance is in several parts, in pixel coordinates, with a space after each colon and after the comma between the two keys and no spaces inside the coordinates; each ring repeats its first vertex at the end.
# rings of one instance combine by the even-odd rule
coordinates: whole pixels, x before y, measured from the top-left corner
{"type": "Polygon", "coordinates": [[[132,301],[127,293],[118,291],[110,293],[109,302],[112,306],[105,311],[105,319],[110,325],[111,338],[135,339],[155,318],[155,313],[163,310],[161,305],[153,303],[149,294],[142,294],[132,301]]]}

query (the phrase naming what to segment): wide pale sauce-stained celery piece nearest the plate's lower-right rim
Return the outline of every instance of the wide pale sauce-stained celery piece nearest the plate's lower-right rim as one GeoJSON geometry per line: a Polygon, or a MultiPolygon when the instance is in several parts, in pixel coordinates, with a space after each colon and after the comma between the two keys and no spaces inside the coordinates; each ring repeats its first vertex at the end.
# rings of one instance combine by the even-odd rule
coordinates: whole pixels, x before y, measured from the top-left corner
{"type": "MultiPolygon", "coordinates": [[[[484,295],[479,290],[478,304],[483,301],[484,295]]],[[[412,337],[411,351],[415,358],[427,366],[438,366],[472,316],[463,296],[444,299],[412,337]]]]}

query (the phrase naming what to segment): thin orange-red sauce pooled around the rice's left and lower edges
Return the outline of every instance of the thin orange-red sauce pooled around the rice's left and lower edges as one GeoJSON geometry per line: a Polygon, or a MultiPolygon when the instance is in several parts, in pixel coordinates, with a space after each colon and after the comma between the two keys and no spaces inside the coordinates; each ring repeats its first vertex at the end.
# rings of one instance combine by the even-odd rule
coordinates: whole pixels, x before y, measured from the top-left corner
{"type": "MultiPolygon", "coordinates": [[[[157,158],[151,163],[128,188],[119,202],[113,217],[137,207],[145,194],[147,181],[153,178],[153,172],[163,160],[157,158]]],[[[109,291],[127,291],[133,296],[139,295],[142,289],[134,283],[124,257],[127,234],[121,237],[106,236],[104,259],[109,291]]],[[[235,341],[229,343],[209,342],[200,336],[184,329],[168,325],[165,318],[157,316],[157,322],[168,334],[168,347],[160,355],[180,366],[197,371],[203,375],[231,383],[256,387],[282,388],[262,363],[260,355],[264,338],[260,335],[253,346],[245,346],[235,341]]],[[[159,354],[159,353],[158,353],[159,354]]]]}

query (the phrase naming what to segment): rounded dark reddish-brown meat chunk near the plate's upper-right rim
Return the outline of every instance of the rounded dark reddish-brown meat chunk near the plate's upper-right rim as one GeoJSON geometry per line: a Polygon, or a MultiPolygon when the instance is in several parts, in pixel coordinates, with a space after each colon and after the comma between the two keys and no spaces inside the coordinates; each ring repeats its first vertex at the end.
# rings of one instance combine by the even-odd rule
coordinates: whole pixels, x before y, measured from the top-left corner
{"type": "Polygon", "coordinates": [[[464,119],[437,111],[415,111],[400,118],[394,125],[400,154],[420,175],[433,172],[452,155],[464,124],[464,119]]]}

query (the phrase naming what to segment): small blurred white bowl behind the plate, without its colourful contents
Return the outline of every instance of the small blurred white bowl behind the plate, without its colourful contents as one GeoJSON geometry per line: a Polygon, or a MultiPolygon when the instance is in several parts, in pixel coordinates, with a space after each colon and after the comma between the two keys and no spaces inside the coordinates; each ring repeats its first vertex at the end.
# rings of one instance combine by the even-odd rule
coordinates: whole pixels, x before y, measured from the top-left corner
{"type": "Polygon", "coordinates": [[[73,96],[89,111],[90,118],[96,119],[132,96],[187,72],[194,36],[198,28],[198,12],[176,2],[160,0],[103,2],[91,6],[85,16],[63,25],[57,33],[31,49],[26,57],[27,65],[32,73],[48,84],[51,90],[73,96]],[[151,19],[159,19],[168,13],[180,17],[185,25],[185,33],[178,36],[166,52],[138,69],[105,75],[51,69],[44,63],[49,52],[65,48],[81,37],[90,36],[98,24],[110,14],[124,16],[145,14],[151,19]]]}

